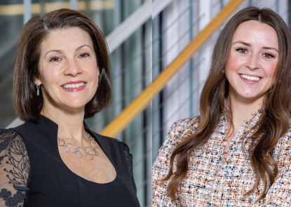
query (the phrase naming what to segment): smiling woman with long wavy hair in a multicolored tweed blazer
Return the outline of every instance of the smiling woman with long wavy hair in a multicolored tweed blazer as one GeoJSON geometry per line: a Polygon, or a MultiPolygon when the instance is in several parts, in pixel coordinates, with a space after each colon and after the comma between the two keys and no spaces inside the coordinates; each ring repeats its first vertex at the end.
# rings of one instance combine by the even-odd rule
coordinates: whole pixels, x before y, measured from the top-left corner
{"type": "Polygon", "coordinates": [[[291,34],[279,15],[225,25],[201,115],[170,128],[153,166],[153,206],[291,205],[291,34]]]}

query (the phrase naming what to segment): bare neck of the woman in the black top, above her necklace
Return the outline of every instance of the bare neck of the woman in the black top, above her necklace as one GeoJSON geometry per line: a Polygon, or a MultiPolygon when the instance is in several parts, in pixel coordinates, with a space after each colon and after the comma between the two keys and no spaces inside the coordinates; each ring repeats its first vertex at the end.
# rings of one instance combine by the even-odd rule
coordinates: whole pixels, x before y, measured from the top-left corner
{"type": "Polygon", "coordinates": [[[74,141],[83,145],[86,143],[88,134],[83,125],[85,108],[79,112],[65,112],[62,109],[48,109],[43,105],[41,115],[48,117],[58,125],[57,137],[66,140],[66,142],[74,141]]]}

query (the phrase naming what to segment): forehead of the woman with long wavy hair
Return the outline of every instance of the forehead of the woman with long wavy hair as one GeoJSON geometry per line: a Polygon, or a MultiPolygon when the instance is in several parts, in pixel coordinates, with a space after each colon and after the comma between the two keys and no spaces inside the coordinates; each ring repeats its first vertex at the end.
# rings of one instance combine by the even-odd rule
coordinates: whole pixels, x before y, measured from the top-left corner
{"type": "Polygon", "coordinates": [[[252,45],[270,46],[278,49],[276,30],[270,25],[250,20],[241,23],[236,28],[232,42],[243,41],[252,45]]]}

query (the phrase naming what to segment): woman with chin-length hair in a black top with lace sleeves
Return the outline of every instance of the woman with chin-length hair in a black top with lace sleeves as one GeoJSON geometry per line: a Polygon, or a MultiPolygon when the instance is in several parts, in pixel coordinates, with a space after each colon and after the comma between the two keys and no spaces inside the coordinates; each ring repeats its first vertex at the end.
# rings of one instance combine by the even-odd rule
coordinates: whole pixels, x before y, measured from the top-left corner
{"type": "Polygon", "coordinates": [[[0,131],[0,206],[140,206],[128,146],[83,121],[112,99],[107,44],[93,21],[69,9],[34,16],[13,84],[25,123],[0,131]]]}

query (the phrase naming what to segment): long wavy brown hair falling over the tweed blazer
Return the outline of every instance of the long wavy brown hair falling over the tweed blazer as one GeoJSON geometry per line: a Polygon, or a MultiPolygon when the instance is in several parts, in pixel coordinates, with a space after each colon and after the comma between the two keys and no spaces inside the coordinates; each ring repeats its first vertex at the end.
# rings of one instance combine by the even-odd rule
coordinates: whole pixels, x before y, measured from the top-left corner
{"type": "MultiPolygon", "coordinates": [[[[250,138],[252,149],[250,161],[255,171],[255,184],[248,196],[257,189],[262,181],[264,190],[259,199],[264,199],[267,189],[273,185],[278,174],[278,164],[273,158],[273,149],[279,138],[287,133],[290,119],[290,84],[291,84],[291,34],[282,18],[269,8],[248,7],[236,13],[225,25],[219,35],[212,53],[212,64],[200,99],[200,123],[195,133],[180,142],[170,156],[170,171],[161,181],[172,180],[168,193],[173,201],[182,180],[187,175],[189,155],[208,141],[219,118],[224,112],[224,100],[229,92],[229,82],[222,70],[226,68],[231,49],[231,41],[238,25],[242,22],[256,20],[276,30],[279,44],[278,65],[274,84],[264,98],[264,110],[259,120],[259,128],[250,138]],[[177,159],[177,171],[173,172],[173,162],[177,159]],[[269,166],[271,164],[271,167],[269,166]],[[269,180],[269,181],[268,181],[269,180]]],[[[231,116],[231,113],[230,113],[231,116]]],[[[231,118],[231,117],[229,117],[231,118]]]]}

